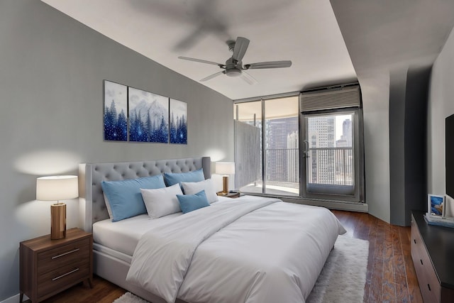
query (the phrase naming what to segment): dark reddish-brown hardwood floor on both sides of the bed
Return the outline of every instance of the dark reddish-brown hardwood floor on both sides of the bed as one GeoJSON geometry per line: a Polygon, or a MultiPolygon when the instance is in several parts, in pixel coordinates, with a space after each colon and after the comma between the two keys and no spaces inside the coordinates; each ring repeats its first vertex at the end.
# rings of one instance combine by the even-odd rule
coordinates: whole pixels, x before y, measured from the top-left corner
{"type": "MultiPolygon", "coordinates": [[[[393,226],[370,214],[333,211],[346,236],[368,240],[369,261],[364,302],[423,302],[410,253],[410,228],[393,226]]],[[[125,290],[94,277],[92,289],[82,284],[45,303],[111,303],[125,290]]]]}

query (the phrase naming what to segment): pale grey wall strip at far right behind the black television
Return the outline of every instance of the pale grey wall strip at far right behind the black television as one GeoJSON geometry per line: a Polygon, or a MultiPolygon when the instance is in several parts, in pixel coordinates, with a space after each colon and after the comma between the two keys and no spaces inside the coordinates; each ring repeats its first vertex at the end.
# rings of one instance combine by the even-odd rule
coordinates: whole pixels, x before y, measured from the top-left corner
{"type": "Polygon", "coordinates": [[[445,194],[445,118],[454,114],[454,31],[433,64],[428,104],[428,193],[445,194]]]}

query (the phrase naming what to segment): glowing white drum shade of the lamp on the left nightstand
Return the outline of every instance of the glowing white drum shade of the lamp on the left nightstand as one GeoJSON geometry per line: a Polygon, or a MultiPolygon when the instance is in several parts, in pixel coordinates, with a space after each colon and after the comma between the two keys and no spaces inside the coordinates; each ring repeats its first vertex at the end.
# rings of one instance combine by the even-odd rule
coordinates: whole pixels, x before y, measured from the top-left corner
{"type": "Polygon", "coordinates": [[[79,197],[77,176],[50,176],[36,179],[36,199],[58,201],[79,197]]]}

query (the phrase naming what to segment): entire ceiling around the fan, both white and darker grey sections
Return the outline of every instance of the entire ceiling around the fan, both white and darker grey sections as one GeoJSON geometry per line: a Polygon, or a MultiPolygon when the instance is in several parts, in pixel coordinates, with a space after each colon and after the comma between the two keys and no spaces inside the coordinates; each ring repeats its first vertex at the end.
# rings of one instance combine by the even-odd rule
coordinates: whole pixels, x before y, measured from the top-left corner
{"type": "Polygon", "coordinates": [[[231,99],[358,80],[376,89],[387,82],[377,75],[430,67],[454,26],[453,0],[41,1],[197,82],[220,69],[177,57],[224,63],[238,36],[250,40],[245,64],[292,60],[249,70],[255,85],[226,75],[200,82],[231,99]]]}

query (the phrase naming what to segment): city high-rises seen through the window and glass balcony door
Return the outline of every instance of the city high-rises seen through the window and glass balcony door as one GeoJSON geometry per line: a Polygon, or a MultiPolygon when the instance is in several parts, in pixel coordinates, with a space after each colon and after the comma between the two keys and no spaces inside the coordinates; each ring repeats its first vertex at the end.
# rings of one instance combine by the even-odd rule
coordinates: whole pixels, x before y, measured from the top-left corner
{"type": "MultiPolygon", "coordinates": [[[[265,158],[265,192],[277,189],[299,195],[301,160],[306,162],[304,180],[308,184],[352,184],[353,114],[306,115],[304,135],[299,133],[299,113],[279,118],[275,118],[275,113],[271,116],[265,119],[265,128],[262,128],[262,119],[255,121],[255,126],[265,131],[264,136],[260,135],[260,141],[265,139],[265,150],[261,153],[265,158]],[[302,155],[300,136],[308,142],[301,146],[301,150],[308,148],[302,155]]],[[[249,119],[243,122],[254,124],[249,119]]],[[[254,183],[255,187],[262,185],[261,178],[254,183]]]]}

